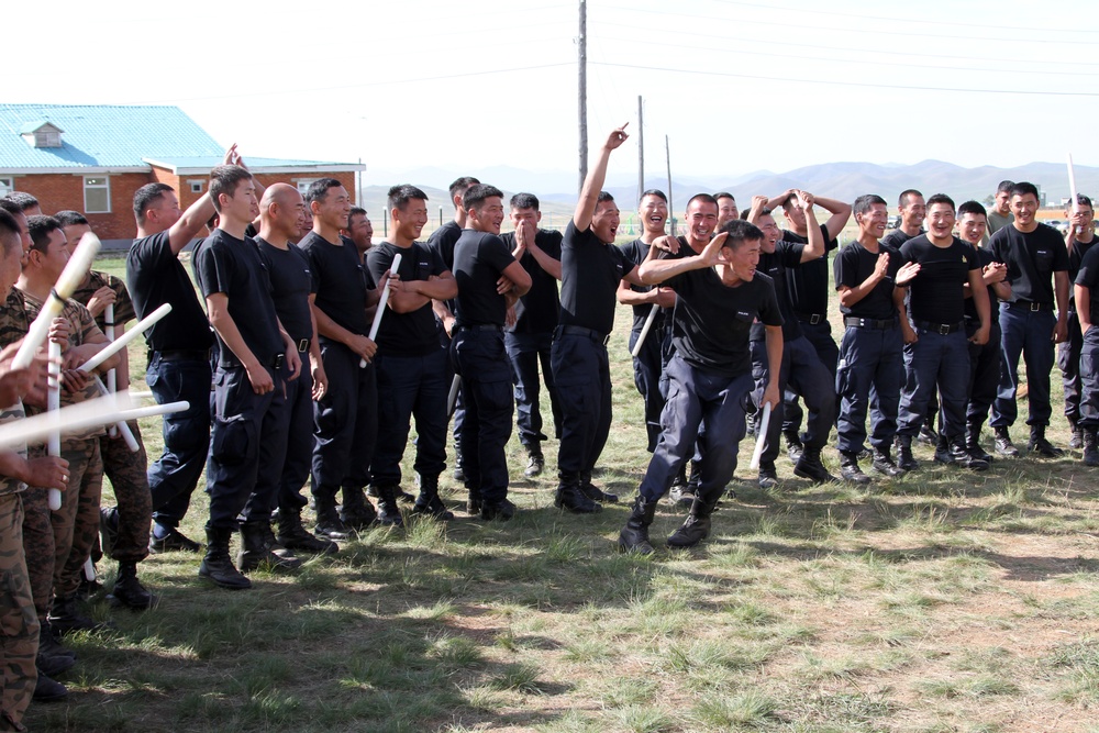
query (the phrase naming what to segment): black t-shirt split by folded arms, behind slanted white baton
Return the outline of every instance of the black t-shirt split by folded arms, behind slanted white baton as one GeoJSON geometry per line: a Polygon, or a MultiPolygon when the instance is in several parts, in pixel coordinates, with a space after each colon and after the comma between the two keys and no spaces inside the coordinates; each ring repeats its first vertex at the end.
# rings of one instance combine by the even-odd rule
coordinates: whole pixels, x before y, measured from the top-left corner
{"type": "MultiPolygon", "coordinates": [[[[366,252],[366,269],[375,282],[381,282],[398,254],[401,266],[397,274],[403,281],[428,280],[432,275],[447,271],[435,251],[422,242],[413,242],[409,247],[380,242],[366,252]]],[[[439,335],[431,301],[408,313],[387,308],[376,341],[379,352],[388,356],[426,356],[437,351],[439,335]]]]}

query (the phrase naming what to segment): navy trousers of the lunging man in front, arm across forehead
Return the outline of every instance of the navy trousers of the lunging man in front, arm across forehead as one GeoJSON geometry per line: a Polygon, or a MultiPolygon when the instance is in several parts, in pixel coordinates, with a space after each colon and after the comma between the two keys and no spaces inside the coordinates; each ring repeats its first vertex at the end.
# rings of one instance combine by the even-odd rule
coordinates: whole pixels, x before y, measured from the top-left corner
{"type": "Polygon", "coordinates": [[[736,470],[736,452],[744,437],[744,404],[752,375],[718,375],[692,367],[679,356],[668,363],[668,400],[660,415],[660,437],[641,481],[640,492],[656,501],[671,487],[684,463],[701,454],[698,493],[711,501],[720,496],[736,470]],[[699,426],[706,422],[706,432],[699,426]]]}

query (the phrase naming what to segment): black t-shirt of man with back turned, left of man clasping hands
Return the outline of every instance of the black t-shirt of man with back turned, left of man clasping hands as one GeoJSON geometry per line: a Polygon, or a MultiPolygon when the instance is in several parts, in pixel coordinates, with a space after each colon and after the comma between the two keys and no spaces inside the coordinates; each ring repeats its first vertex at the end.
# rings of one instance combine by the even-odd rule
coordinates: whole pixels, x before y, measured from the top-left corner
{"type": "Polygon", "coordinates": [[[511,249],[498,235],[462,230],[454,245],[454,279],[458,282],[458,312],[454,315],[458,325],[503,325],[508,303],[496,291],[496,282],[513,262],[511,249]]]}

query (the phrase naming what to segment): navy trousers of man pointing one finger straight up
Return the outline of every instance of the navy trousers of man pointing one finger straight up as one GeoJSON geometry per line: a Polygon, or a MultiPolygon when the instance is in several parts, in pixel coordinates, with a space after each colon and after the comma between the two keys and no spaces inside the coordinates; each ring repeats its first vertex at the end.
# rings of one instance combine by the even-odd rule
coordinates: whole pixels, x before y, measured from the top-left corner
{"type": "Polygon", "coordinates": [[[560,397],[563,476],[590,471],[611,429],[611,371],[602,340],[557,332],[552,353],[553,377],[560,397]]]}

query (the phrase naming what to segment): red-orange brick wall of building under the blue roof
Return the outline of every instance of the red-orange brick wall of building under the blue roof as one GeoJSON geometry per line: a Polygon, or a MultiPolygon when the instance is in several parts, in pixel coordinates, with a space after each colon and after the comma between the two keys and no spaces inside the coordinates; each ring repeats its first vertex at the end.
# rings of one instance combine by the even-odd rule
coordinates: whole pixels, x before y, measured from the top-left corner
{"type": "MultiPolygon", "coordinates": [[[[352,199],[355,198],[355,174],[337,173],[325,174],[262,174],[256,176],[260,184],[270,186],[276,182],[290,184],[297,186],[301,178],[324,178],[332,177],[344,185],[352,199]]],[[[145,184],[162,182],[167,184],[179,197],[179,207],[186,210],[189,206],[209,189],[209,176],[177,176],[163,168],[153,168],[148,174],[116,174],[108,176],[111,186],[111,213],[86,214],[88,221],[99,238],[107,240],[132,240],[135,224],[133,214],[134,191],[145,184]],[[202,190],[191,191],[190,181],[202,181],[202,190]]],[[[43,174],[25,175],[14,177],[15,190],[25,191],[38,199],[43,213],[53,214],[58,211],[71,209],[84,212],[84,175],[74,174],[43,174]]]]}

